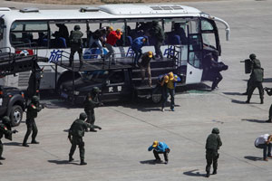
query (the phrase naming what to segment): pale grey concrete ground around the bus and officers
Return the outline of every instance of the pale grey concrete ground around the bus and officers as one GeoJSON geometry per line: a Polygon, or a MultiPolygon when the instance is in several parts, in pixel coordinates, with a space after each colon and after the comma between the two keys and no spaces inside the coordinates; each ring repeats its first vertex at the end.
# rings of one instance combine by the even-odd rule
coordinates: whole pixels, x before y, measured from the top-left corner
{"type": "MultiPolygon", "coordinates": [[[[6,3],[0,1],[1,6],[6,3]]],[[[147,102],[116,103],[96,109],[96,124],[102,130],[85,134],[87,166],[79,166],[78,150],[75,161],[67,161],[71,145],[66,130],[83,109],[73,109],[58,100],[43,100],[47,108],[36,119],[37,140],[41,143],[30,148],[21,146],[24,123],[16,128],[19,133],[12,142],[3,138],[6,160],[0,166],[0,180],[207,180],[205,141],[214,127],[220,129],[223,146],[219,149],[218,175],[209,180],[271,180],[272,159],[262,161],[262,150],[254,147],[254,140],[261,134],[271,134],[272,124],[264,121],[272,98],[265,95],[265,103],[259,104],[256,90],[252,103],[244,103],[247,98],[240,93],[246,90],[248,74],[240,61],[255,52],[265,69],[264,86],[272,87],[272,1],[182,5],[197,7],[230,25],[229,42],[224,40],[224,29],[219,26],[222,60],[229,66],[228,71],[222,72],[224,79],[219,90],[178,94],[179,106],[174,112],[160,112],[160,105],[147,102]],[[170,146],[168,165],[151,162],[154,157],[147,148],[154,140],[170,146]]]]}

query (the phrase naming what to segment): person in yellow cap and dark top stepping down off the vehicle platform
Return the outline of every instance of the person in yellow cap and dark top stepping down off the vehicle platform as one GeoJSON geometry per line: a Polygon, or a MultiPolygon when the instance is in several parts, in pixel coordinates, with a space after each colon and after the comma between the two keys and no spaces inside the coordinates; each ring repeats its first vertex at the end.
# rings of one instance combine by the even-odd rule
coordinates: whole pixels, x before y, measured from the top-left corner
{"type": "Polygon", "coordinates": [[[152,86],[151,82],[151,59],[155,59],[153,52],[145,52],[141,56],[141,83],[143,83],[145,74],[148,76],[149,86],[152,86]]]}

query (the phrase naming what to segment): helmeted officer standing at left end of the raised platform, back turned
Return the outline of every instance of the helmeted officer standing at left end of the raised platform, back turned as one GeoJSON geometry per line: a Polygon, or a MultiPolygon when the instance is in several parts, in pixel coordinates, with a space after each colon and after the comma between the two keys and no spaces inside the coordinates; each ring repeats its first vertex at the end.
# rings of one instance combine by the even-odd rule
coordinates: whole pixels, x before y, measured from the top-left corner
{"type": "Polygon", "coordinates": [[[80,31],[81,27],[79,25],[75,25],[73,27],[74,31],[71,31],[70,34],[70,43],[71,43],[71,52],[69,58],[69,67],[72,66],[73,55],[75,52],[78,52],[78,56],[80,59],[81,66],[83,65],[83,33],[80,31]]]}

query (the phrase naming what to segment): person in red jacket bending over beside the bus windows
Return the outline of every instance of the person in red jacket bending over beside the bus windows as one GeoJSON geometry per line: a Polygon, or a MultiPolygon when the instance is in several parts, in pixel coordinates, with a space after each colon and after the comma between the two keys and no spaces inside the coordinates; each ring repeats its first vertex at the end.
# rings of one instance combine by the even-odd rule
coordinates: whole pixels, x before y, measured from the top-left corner
{"type": "Polygon", "coordinates": [[[112,54],[112,62],[115,63],[114,60],[114,49],[113,46],[116,43],[117,40],[121,39],[121,30],[117,29],[116,31],[111,31],[108,36],[107,36],[107,41],[105,46],[107,47],[107,49],[109,50],[109,52],[105,55],[105,60],[107,60],[112,54]]]}

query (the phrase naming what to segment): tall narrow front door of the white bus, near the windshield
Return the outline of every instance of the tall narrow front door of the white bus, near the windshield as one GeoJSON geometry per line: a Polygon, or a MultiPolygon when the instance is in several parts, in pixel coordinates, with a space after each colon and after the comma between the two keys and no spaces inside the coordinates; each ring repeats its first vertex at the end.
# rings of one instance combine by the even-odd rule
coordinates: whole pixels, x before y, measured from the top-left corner
{"type": "Polygon", "coordinates": [[[199,30],[199,19],[188,23],[188,62],[186,84],[199,83],[202,77],[202,37],[199,30]]]}

